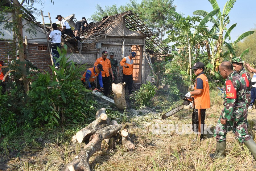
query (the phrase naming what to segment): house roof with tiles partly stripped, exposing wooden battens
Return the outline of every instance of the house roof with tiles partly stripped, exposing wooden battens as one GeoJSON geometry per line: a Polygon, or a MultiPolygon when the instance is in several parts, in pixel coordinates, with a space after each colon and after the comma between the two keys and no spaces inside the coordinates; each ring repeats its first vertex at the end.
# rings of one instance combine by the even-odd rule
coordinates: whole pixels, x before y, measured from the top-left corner
{"type": "Polygon", "coordinates": [[[98,39],[106,35],[107,30],[112,25],[120,21],[122,18],[125,20],[127,29],[138,32],[146,37],[146,50],[148,53],[158,54],[160,50],[168,53],[166,46],[154,37],[146,24],[139,18],[139,16],[137,16],[137,14],[133,14],[132,11],[126,11],[112,16],[105,16],[100,22],[89,23],[85,30],[78,33],[78,36],[84,36],[81,40],[83,44],[97,42],[98,39]]]}

